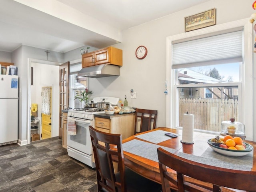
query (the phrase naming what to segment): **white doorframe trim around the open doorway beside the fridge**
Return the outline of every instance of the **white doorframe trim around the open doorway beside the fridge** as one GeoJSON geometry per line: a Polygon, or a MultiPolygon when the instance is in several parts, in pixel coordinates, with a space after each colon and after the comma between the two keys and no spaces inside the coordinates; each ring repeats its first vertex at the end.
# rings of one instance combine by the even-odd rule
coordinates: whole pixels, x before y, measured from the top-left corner
{"type": "Polygon", "coordinates": [[[39,60],[39,59],[33,59],[33,58],[28,58],[28,92],[27,92],[27,143],[30,144],[30,121],[31,121],[31,116],[30,116],[30,110],[31,110],[31,64],[32,63],[38,63],[38,64],[47,64],[47,65],[55,65],[55,66],[60,66],[62,63],[59,62],[52,62],[52,61],[46,61],[46,60],[39,60]]]}

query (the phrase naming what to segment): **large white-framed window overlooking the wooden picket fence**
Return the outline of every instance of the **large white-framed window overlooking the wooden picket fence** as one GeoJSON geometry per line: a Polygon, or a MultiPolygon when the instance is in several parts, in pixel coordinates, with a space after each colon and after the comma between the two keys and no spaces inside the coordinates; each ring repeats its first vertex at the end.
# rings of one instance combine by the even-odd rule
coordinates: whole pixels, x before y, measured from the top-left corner
{"type": "MultiPolygon", "coordinates": [[[[250,30],[252,27],[245,20],[240,20],[167,38],[167,78],[172,82],[169,88],[174,93],[166,98],[167,127],[182,128],[180,114],[185,113],[188,108],[198,110],[199,107],[202,107],[205,113],[198,117],[200,113],[194,111],[195,118],[198,122],[205,122],[208,127],[201,125],[197,127],[198,130],[218,133],[221,122],[234,115],[237,116],[236,121],[253,126],[252,120],[246,116],[252,112],[249,102],[252,100],[252,93],[249,89],[242,87],[242,84],[247,82],[246,86],[253,88],[248,75],[243,76],[244,72],[252,74],[250,62],[252,62],[253,45],[250,40],[252,35],[250,30]],[[217,39],[210,42],[216,37],[217,39]],[[218,41],[218,38],[222,40],[218,41]],[[198,42],[199,49],[193,52],[198,42]],[[218,45],[215,49],[216,43],[224,46],[218,45]],[[231,46],[233,43],[234,46],[231,46]],[[179,44],[182,46],[179,47],[179,44]],[[229,52],[230,48],[234,50],[229,52]],[[218,52],[218,49],[221,51],[218,52]],[[183,56],[180,54],[182,52],[183,56]],[[183,96],[182,93],[184,93],[183,96]],[[182,104],[182,100],[187,100],[187,103],[182,104]],[[229,110],[221,114],[222,110],[217,106],[220,100],[228,102],[227,106],[231,107],[232,112],[229,110]],[[211,110],[207,105],[211,105],[211,110]],[[248,111],[246,107],[250,110],[248,111]]],[[[252,127],[248,127],[246,132],[252,134],[252,127]]],[[[252,136],[249,137],[252,138],[252,136]]]]}

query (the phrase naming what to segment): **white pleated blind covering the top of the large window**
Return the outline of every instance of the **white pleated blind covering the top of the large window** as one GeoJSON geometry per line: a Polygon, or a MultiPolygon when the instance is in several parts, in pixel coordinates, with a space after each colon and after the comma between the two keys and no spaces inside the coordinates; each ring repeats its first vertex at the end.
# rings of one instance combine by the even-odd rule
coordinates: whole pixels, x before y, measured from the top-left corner
{"type": "Polygon", "coordinates": [[[172,44],[172,68],[242,62],[242,31],[172,44]]]}

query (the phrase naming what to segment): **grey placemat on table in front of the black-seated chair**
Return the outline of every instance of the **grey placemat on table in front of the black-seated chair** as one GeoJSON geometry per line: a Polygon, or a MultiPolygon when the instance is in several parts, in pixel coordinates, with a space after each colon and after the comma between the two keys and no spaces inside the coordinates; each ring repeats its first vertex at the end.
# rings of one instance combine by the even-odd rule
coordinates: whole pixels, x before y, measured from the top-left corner
{"type": "Polygon", "coordinates": [[[144,142],[137,139],[123,143],[122,146],[123,146],[123,151],[129,152],[129,153],[132,153],[156,162],[158,162],[158,155],[157,155],[158,147],[162,147],[163,149],[171,153],[176,152],[176,149],[163,147],[160,145],[144,142]]]}

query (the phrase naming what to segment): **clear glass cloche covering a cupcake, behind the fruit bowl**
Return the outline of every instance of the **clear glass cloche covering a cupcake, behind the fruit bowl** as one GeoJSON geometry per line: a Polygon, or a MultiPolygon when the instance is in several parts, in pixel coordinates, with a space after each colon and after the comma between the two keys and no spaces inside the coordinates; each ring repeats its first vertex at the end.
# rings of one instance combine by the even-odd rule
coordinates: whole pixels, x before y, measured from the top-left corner
{"type": "Polygon", "coordinates": [[[221,135],[230,135],[232,137],[240,137],[242,139],[245,139],[245,134],[244,134],[244,124],[241,122],[235,121],[234,118],[231,118],[230,121],[222,121],[221,122],[221,135]]]}

